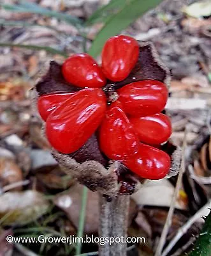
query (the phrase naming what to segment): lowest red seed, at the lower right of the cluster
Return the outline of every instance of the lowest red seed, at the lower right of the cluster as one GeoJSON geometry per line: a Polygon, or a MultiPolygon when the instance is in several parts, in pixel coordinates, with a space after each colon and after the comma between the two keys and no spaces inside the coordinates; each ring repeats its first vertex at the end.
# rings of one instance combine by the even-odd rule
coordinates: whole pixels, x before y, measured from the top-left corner
{"type": "Polygon", "coordinates": [[[142,143],[138,153],[122,163],[136,175],[150,180],[163,179],[171,167],[171,159],[166,152],[142,143]]]}

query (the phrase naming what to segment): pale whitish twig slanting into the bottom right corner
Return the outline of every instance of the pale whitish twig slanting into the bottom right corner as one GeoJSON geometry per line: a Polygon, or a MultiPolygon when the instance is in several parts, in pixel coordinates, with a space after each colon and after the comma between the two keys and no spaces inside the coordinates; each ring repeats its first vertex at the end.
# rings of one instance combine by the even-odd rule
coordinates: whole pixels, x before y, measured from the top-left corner
{"type": "Polygon", "coordinates": [[[165,250],[162,253],[162,256],[166,256],[170,250],[173,248],[173,246],[175,246],[175,244],[177,243],[177,241],[184,235],[186,234],[187,230],[189,230],[189,228],[193,225],[193,223],[198,220],[198,218],[203,216],[203,212],[211,207],[211,200],[208,201],[207,204],[205,204],[203,207],[201,207],[201,209],[196,212],[191,218],[189,218],[189,220],[186,222],[185,225],[183,225],[182,227],[180,227],[177,231],[177,234],[175,235],[175,237],[173,237],[173,239],[170,241],[170,243],[168,244],[168,246],[165,248],[165,250]]]}

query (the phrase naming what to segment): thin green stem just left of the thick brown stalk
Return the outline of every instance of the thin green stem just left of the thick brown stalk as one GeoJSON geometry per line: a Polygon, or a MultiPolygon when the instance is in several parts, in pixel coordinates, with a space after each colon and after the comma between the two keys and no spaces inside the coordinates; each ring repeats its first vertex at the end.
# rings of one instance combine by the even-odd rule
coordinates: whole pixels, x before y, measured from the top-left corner
{"type": "MultiPolygon", "coordinates": [[[[78,233],[77,237],[82,237],[84,234],[84,223],[85,223],[85,209],[87,205],[87,193],[88,189],[84,186],[82,191],[82,205],[80,209],[80,216],[79,216],[79,224],[78,224],[78,233]]],[[[79,239],[80,241],[80,239],[79,239]]],[[[82,243],[78,242],[76,244],[76,255],[80,255],[82,250],[82,243]]]]}

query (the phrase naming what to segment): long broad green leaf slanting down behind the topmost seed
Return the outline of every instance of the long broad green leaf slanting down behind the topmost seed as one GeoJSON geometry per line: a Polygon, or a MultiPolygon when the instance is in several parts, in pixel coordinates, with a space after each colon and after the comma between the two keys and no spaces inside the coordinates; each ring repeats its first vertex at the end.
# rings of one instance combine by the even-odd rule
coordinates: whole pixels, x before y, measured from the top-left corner
{"type": "Polygon", "coordinates": [[[106,40],[111,36],[117,35],[120,31],[127,28],[129,24],[138,19],[140,15],[154,8],[162,0],[133,0],[125,4],[124,8],[119,13],[110,17],[105,26],[99,31],[94,42],[89,49],[89,54],[93,57],[98,56],[103,48],[106,40]]]}

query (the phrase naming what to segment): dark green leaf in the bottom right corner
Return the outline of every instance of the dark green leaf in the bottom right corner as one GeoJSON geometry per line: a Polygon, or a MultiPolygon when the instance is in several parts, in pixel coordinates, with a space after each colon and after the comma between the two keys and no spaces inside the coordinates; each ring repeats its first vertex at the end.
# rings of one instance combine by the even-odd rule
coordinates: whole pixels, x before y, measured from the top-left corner
{"type": "Polygon", "coordinates": [[[210,256],[211,255],[211,212],[205,220],[200,236],[196,240],[193,251],[189,256],[210,256]]]}

